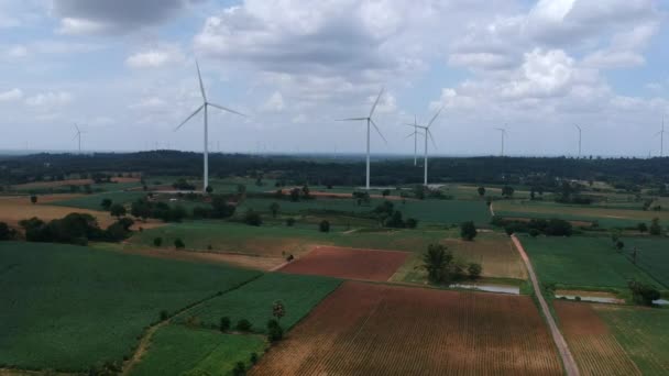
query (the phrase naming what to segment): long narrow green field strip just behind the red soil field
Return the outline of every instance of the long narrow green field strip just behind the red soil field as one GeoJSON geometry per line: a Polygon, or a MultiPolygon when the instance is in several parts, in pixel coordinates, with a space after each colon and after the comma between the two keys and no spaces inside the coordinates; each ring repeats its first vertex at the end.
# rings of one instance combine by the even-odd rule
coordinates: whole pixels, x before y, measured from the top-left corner
{"type": "Polygon", "coordinates": [[[222,221],[194,221],[144,230],[131,237],[132,245],[153,247],[162,237],[168,246],[179,237],[187,250],[235,252],[259,256],[282,256],[307,252],[312,245],[424,252],[430,243],[448,236],[446,231],[399,230],[381,232],[319,232],[316,228],[285,225],[251,226],[222,221]]]}

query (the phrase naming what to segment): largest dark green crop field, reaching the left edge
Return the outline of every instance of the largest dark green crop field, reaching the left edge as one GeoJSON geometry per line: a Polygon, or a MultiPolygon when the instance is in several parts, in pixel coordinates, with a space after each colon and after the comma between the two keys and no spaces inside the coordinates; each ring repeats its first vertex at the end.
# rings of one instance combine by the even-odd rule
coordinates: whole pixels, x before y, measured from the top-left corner
{"type": "Polygon", "coordinates": [[[73,245],[0,242],[0,364],[85,371],[130,355],[160,312],[260,274],[73,245]]]}

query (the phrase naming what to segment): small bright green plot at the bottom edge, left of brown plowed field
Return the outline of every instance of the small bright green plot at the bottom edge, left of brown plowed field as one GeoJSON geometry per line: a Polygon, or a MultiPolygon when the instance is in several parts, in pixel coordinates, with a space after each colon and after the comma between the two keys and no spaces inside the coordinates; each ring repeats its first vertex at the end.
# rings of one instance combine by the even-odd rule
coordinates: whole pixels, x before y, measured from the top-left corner
{"type": "Polygon", "coordinates": [[[168,324],[158,329],[131,376],[231,375],[237,362],[250,366],[266,344],[260,335],[221,334],[218,331],[168,324]]]}

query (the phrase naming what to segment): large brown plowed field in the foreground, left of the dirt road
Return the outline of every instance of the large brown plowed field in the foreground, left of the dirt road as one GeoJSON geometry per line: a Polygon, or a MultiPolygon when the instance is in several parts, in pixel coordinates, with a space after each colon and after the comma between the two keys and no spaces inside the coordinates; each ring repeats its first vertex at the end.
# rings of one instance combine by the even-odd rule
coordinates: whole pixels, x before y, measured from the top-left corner
{"type": "Polygon", "coordinates": [[[562,375],[529,297],[348,281],[251,375],[562,375]]]}

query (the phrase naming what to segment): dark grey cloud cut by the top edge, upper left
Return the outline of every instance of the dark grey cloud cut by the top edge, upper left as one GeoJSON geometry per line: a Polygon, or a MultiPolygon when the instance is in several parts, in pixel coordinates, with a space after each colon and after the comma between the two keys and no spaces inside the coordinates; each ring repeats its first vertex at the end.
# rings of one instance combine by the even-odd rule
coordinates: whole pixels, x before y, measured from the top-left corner
{"type": "Polygon", "coordinates": [[[125,33],[161,23],[195,0],[53,0],[63,34],[125,33]]]}

